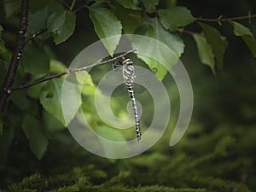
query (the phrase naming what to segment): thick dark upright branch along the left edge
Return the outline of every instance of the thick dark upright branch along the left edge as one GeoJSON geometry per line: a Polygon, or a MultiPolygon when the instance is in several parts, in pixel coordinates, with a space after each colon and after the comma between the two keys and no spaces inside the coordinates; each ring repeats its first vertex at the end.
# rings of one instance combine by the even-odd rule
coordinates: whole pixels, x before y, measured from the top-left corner
{"type": "Polygon", "coordinates": [[[5,82],[3,84],[3,90],[0,93],[0,111],[3,111],[4,106],[8,100],[10,94],[9,90],[14,84],[15,74],[19,65],[20,56],[26,44],[25,33],[27,26],[28,2],[29,0],[22,0],[21,2],[19,32],[17,35],[14,54],[12,55],[11,61],[9,63],[9,69],[6,74],[5,82]]]}

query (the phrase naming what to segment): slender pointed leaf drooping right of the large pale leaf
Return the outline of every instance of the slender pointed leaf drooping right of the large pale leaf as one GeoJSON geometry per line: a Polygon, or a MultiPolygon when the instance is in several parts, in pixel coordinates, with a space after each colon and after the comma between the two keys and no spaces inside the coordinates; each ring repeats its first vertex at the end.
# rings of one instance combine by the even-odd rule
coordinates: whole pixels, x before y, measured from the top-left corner
{"type": "Polygon", "coordinates": [[[193,38],[195,39],[201,62],[211,67],[212,73],[215,74],[215,61],[211,45],[208,44],[207,39],[201,35],[194,34],[193,38]]]}

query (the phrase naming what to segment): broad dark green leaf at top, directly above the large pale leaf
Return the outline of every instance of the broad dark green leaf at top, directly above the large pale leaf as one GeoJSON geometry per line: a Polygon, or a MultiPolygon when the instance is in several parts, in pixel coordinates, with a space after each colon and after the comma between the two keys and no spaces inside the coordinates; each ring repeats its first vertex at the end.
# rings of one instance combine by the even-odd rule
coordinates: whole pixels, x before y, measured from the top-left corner
{"type": "Polygon", "coordinates": [[[189,9],[184,7],[159,9],[157,13],[163,26],[171,32],[175,32],[180,26],[187,26],[195,21],[195,17],[191,15],[189,9]]]}

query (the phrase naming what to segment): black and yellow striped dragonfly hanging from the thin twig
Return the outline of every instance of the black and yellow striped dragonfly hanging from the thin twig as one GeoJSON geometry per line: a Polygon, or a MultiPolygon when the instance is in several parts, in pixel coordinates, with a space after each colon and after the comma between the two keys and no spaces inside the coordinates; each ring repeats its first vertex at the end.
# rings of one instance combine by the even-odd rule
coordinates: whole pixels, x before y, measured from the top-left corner
{"type": "Polygon", "coordinates": [[[133,83],[136,78],[135,69],[132,66],[133,62],[129,58],[122,57],[121,60],[113,63],[113,68],[122,67],[123,79],[128,93],[131,96],[131,104],[134,112],[134,119],[136,124],[137,141],[139,142],[142,138],[141,126],[138,116],[137,103],[134,96],[133,83]]]}

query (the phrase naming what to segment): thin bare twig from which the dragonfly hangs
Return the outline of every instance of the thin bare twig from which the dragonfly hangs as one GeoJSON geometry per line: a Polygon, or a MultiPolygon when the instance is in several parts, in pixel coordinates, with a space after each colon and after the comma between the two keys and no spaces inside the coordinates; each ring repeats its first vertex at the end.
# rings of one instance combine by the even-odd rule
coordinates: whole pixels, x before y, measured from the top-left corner
{"type": "Polygon", "coordinates": [[[85,70],[88,70],[89,68],[92,68],[92,67],[96,67],[96,66],[102,66],[104,64],[108,64],[108,63],[111,63],[111,62],[114,62],[114,61],[118,61],[120,58],[122,58],[123,56],[129,54],[129,53],[132,53],[134,51],[136,51],[137,49],[131,49],[131,50],[128,50],[127,52],[125,52],[124,54],[122,55],[118,55],[118,56],[115,56],[113,57],[112,59],[110,60],[107,60],[107,61],[97,61],[96,63],[93,63],[89,66],[85,66],[85,67],[79,67],[79,68],[74,68],[74,69],[69,69],[67,70],[67,72],[62,72],[62,73],[57,73],[57,74],[54,74],[54,75],[51,75],[49,77],[46,77],[44,79],[39,79],[38,81],[35,81],[31,84],[24,84],[24,85],[21,85],[20,87],[14,87],[14,88],[11,88],[9,89],[9,92],[11,91],[15,91],[15,90],[22,90],[22,89],[26,89],[28,87],[31,87],[33,85],[36,85],[36,84],[40,84],[40,83],[43,83],[45,81],[48,81],[50,79],[55,79],[55,78],[59,78],[63,75],[66,75],[66,74],[71,74],[71,73],[76,73],[76,72],[81,72],[81,71],[85,71],[85,70]]]}

